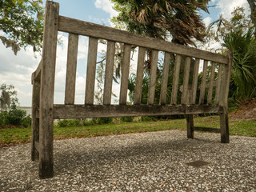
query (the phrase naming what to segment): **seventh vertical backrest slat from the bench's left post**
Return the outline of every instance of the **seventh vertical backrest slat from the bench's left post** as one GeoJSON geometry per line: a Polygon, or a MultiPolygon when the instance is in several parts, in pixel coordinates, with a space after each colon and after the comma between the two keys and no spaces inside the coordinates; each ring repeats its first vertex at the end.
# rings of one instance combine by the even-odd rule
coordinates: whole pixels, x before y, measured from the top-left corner
{"type": "Polygon", "coordinates": [[[161,82],[161,92],[160,92],[160,103],[162,105],[166,104],[166,94],[167,94],[167,83],[169,76],[169,64],[170,64],[170,53],[165,53],[165,59],[163,62],[162,70],[162,82],[161,82]]]}

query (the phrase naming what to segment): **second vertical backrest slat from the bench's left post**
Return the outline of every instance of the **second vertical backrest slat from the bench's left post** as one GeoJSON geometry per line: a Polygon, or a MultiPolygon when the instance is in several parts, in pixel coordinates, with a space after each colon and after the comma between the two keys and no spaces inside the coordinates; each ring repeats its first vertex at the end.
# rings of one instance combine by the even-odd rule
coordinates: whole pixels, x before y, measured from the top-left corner
{"type": "Polygon", "coordinates": [[[94,85],[97,62],[98,39],[89,38],[88,62],[86,71],[86,105],[94,104],[94,85]]]}

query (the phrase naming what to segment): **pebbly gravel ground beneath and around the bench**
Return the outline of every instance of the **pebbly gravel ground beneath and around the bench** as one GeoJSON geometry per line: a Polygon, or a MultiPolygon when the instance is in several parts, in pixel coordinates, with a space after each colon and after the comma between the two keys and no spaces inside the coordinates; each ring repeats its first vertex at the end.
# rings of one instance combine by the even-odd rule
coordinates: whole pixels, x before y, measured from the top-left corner
{"type": "Polygon", "coordinates": [[[256,138],[166,130],[54,141],[54,178],[30,144],[0,149],[0,191],[256,191],[256,138]],[[204,161],[201,167],[187,163],[204,161]]]}

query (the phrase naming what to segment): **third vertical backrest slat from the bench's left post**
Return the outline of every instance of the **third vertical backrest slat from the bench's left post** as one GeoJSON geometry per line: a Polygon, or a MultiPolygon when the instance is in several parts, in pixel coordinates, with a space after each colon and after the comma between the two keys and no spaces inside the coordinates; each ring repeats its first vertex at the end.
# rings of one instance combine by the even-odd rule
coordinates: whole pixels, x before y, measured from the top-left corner
{"type": "Polygon", "coordinates": [[[111,104],[113,70],[114,70],[114,53],[115,53],[115,42],[108,41],[107,49],[106,49],[106,70],[105,70],[105,82],[104,82],[104,93],[103,93],[104,105],[111,104]]]}

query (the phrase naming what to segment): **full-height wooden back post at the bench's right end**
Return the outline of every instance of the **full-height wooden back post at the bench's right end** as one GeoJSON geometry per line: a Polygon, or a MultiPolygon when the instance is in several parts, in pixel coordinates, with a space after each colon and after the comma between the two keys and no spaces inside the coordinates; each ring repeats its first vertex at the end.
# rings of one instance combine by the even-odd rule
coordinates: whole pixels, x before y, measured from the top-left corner
{"type": "Polygon", "coordinates": [[[229,58],[229,62],[227,65],[224,65],[222,87],[221,87],[222,92],[221,92],[221,98],[219,101],[220,106],[224,107],[224,112],[220,114],[221,142],[223,143],[230,142],[227,99],[228,99],[229,87],[230,87],[230,75],[231,75],[231,69],[232,69],[233,54],[231,51],[227,51],[226,56],[229,58]]]}

